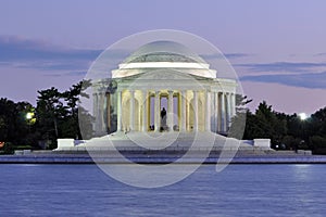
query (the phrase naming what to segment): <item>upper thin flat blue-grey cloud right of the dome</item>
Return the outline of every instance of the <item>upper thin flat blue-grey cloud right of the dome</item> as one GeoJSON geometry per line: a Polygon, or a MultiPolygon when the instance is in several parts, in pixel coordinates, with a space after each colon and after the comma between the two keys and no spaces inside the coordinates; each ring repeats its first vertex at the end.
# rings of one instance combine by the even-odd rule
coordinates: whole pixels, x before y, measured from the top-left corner
{"type": "Polygon", "coordinates": [[[326,63],[258,63],[258,64],[235,64],[235,66],[248,67],[251,72],[288,72],[288,73],[306,73],[312,68],[325,67],[326,63]]]}

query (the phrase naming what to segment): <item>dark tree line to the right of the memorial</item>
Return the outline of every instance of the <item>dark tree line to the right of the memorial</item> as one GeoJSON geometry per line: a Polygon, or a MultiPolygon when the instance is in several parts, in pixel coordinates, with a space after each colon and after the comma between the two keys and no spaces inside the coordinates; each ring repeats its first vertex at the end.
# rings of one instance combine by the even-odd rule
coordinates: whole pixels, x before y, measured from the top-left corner
{"type": "Polygon", "coordinates": [[[274,149],[303,149],[326,154],[326,107],[304,120],[297,114],[273,111],[265,101],[260,103],[254,113],[249,110],[244,113],[243,139],[268,138],[274,149]]]}

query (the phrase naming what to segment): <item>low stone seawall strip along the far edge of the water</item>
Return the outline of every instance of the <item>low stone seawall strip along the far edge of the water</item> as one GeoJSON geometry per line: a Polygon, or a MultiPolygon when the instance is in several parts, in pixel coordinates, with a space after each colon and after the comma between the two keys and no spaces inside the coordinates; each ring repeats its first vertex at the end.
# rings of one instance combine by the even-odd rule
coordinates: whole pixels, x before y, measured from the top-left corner
{"type": "Polygon", "coordinates": [[[0,164],[326,164],[326,155],[281,155],[281,154],[237,154],[235,157],[222,157],[211,155],[202,162],[202,157],[196,155],[180,158],[179,155],[147,155],[127,154],[128,161],[118,156],[89,154],[26,154],[26,155],[0,155],[0,164]],[[177,162],[176,162],[177,161],[177,162]]]}

